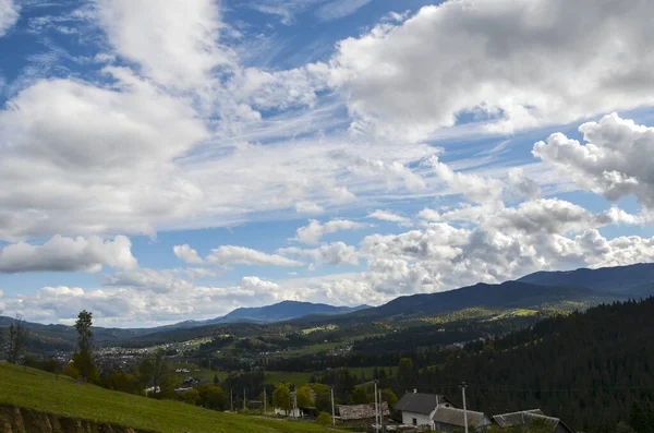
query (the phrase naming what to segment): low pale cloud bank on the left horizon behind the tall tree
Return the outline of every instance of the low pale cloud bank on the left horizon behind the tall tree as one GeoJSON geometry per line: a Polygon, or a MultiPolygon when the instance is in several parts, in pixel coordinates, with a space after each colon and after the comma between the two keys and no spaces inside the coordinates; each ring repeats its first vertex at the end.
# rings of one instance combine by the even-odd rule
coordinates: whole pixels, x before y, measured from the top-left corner
{"type": "Polygon", "coordinates": [[[189,317],[213,318],[239,306],[257,306],[284,299],[301,300],[312,293],[308,289],[289,289],[258,277],[243,277],[234,285],[222,287],[197,286],[190,289],[168,285],[166,290],[159,290],[158,284],[152,286],[148,277],[122,278],[120,286],[102,289],[44,287],[34,294],[7,299],[5,312],[21,313],[31,321],[70,323],[81,310],[86,309],[94,312],[94,323],[99,326],[141,327],[189,317]]]}

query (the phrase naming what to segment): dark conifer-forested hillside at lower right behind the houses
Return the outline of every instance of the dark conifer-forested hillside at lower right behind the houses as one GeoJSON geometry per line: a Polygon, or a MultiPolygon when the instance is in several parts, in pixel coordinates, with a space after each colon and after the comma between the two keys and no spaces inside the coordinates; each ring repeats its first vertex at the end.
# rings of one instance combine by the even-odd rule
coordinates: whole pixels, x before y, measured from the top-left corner
{"type": "Polygon", "coordinates": [[[618,421],[638,414],[634,405],[654,399],[652,341],[654,298],[601,305],[441,350],[436,366],[399,374],[396,386],[456,397],[465,381],[472,409],[542,408],[581,431],[615,432],[618,421]]]}

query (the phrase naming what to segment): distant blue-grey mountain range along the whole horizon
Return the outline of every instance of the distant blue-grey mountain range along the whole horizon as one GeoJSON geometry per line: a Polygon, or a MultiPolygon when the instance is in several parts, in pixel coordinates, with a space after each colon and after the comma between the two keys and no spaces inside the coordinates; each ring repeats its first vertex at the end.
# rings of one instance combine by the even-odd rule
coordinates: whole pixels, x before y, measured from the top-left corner
{"type": "MultiPolygon", "coordinates": [[[[476,284],[436,293],[403,296],[379,306],[347,308],[283,301],[259,308],[237,309],[225,316],[207,321],[186,321],[174,325],[138,329],[96,327],[95,334],[98,341],[116,341],[155,333],[205,329],[219,325],[278,322],[347,325],[437,315],[475,306],[538,309],[562,303],[593,305],[650,296],[654,296],[654,264],[652,263],[598,269],[581,268],[570,272],[537,272],[498,285],[476,284]]],[[[9,326],[9,323],[11,318],[0,317],[0,327],[9,326]]],[[[75,332],[71,326],[28,323],[27,328],[46,338],[74,342],[75,332]]]]}

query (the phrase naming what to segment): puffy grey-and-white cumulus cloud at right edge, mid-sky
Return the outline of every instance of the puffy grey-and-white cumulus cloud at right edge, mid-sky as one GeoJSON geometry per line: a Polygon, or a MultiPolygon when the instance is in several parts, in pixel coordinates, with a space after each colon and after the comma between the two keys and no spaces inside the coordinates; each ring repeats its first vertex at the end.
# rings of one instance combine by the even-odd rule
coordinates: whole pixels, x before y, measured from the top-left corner
{"type": "Polygon", "coordinates": [[[654,128],[613,113],[582,124],[579,131],[585,144],[555,133],[534,145],[534,156],[608,200],[633,195],[654,207],[654,128]]]}

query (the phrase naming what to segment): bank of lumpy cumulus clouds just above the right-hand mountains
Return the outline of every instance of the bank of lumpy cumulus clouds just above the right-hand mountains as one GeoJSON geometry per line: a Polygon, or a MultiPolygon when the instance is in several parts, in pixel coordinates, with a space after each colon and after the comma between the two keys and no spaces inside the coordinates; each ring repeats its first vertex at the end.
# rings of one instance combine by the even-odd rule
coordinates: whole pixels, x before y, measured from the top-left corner
{"type": "Polygon", "coordinates": [[[370,236],[361,254],[368,268],[360,278],[390,299],[475,282],[500,282],[542,269],[627,265],[654,260],[654,238],[604,238],[585,229],[568,238],[558,233],[436,222],[424,230],[370,236]]]}

